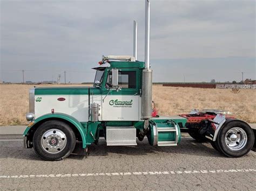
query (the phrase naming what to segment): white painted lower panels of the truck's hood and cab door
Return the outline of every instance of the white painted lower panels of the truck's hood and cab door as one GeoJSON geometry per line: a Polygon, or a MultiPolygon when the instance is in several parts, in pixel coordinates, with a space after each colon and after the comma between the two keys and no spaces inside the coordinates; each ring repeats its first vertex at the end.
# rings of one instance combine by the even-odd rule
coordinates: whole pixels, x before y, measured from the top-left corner
{"type": "MultiPolygon", "coordinates": [[[[90,95],[90,103],[98,103],[99,121],[141,121],[142,98],[138,95],[90,95]],[[104,102],[103,102],[103,98],[104,102]],[[131,105],[110,104],[111,101],[127,101],[131,105]]],[[[51,110],[75,117],[79,122],[87,122],[89,117],[88,95],[36,95],[35,100],[41,97],[40,102],[35,101],[35,118],[50,114],[51,110]],[[58,101],[64,97],[65,101],[58,101]]]]}

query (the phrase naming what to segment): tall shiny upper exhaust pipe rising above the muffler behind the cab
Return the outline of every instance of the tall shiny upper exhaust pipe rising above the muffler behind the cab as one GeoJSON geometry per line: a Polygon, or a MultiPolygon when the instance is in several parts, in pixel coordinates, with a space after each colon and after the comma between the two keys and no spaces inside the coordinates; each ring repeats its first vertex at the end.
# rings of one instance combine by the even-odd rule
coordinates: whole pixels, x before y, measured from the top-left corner
{"type": "Polygon", "coordinates": [[[150,69],[150,1],[145,0],[145,69],[150,69]]]}

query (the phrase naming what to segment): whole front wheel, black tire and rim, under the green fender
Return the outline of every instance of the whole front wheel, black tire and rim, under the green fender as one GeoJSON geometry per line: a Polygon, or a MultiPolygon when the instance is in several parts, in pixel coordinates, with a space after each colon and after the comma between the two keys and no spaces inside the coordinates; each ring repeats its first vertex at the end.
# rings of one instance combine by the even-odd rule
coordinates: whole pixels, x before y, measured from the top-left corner
{"type": "Polygon", "coordinates": [[[33,136],[33,148],[44,160],[62,160],[72,153],[75,145],[75,133],[61,121],[44,122],[33,136]]]}

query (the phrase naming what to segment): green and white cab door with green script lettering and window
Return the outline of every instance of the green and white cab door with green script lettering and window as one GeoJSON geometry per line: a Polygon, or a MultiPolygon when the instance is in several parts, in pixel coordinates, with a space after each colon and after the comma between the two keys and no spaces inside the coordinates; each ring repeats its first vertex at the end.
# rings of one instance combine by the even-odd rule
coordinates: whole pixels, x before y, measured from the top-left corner
{"type": "Polygon", "coordinates": [[[107,70],[102,87],[102,121],[139,121],[140,89],[139,69],[118,69],[118,87],[111,89],[112,70],[107,70]]]}

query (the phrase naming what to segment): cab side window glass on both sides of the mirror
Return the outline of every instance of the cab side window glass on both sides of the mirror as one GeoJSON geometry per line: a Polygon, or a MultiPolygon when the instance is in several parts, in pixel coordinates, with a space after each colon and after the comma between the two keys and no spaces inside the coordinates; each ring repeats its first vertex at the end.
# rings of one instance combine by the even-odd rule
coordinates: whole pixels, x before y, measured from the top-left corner
{"type": "MultiPolygon", "coordinates": [[[[107,75],[106,88],[111,88],[112,72],[107,75]]],[[[136,71],[119,71],[118,86],[120,88],[136,88],[136,71]]]]}

